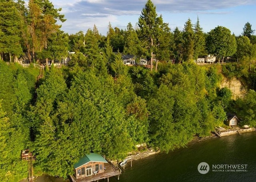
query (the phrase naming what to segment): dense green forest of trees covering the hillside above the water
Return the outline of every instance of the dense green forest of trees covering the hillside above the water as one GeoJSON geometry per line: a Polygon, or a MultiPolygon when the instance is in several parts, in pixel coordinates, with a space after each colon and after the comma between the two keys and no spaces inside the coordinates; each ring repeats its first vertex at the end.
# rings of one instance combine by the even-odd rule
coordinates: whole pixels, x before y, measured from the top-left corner
{"type": "Polygon", "coordinates": [[[48,0],[0,3],[0,177],[27,177],[25,148],[36,155],[34,173],[73,174],[84,154],[96,152],[121,159],[138,150],[136,144],[165,152],[186,146],[194,136],[205,137],[222,126],[226,113],[241,125],[256,126],[256,38],[246,23],[242,36],[225,27],[203,33],[199,20],[173,32],[148,0],[136,29],[112,28],[107,36],[96,26],[86,34],[68,35],[57,20],[65,21],[48,0]],[[32,52],[31,62],[62,59],[75,51],[68,66],[23,68],[15,60],[32,52]],[[117,53],[115,53],[117,52],[117,53]],[[121,54],[159,61],[155,69],[124,65],[121,54]],[[36,59],[35,59],[35,54],[36,59]],[[199,56],[214,54],[234,63],[199,66],[199,56]],[[86,56],[84,56],[86,55],[86,56]],[[172,64],[170,58],[177,64],[172,64]],[[247,89],[233,100],[220,88],[223,77],[239,79],[247,89]],[[113,79],[114,78],[114,79],[113,79]]]}

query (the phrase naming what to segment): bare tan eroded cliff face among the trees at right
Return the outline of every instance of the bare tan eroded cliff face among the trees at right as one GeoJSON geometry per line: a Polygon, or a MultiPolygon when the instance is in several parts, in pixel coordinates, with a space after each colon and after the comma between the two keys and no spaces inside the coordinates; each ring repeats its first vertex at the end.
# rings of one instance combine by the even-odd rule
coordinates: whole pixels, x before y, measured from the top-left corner
{"type": "Polygon", "coordinates": [[[224,78],[220,84],[220,88],[224,87],[228,87],[232,91],[232,99],[234,100],[236,100],[238,97],[243,97],[246,93],[246,89],[242,85],[241,81],[236,78],[233,78],[232,80],[224,78]]]}

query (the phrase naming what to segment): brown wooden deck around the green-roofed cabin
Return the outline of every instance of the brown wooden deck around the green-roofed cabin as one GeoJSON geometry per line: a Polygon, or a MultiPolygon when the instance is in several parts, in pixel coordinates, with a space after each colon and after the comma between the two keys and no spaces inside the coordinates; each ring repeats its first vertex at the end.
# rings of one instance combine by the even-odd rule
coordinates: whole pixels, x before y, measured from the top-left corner
{"type": "Polygon", "coordinates": [[[116,168],[110,162],[104,164],[104,166],[106,167],[105,172],[98,173],[98,174],[92,174],[91,176],[87,176],[87,177],[80,178],[80,179],[76,179],[76,177],[74,175],[70,176],[70,178],[73,182],[92,182],[92,181],[98,181],[98,180],[106,179],[106,178],[109,179],[112,176],[118,176],[118,179],[119,179],[119,175],[122,172],[119,168],[116,168]]]}

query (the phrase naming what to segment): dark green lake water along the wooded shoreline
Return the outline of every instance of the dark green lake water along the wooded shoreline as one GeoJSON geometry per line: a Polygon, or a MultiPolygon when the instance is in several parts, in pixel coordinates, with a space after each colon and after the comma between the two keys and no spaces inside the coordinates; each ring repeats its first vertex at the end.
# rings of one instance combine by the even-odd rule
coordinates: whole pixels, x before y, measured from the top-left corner
{"type": "MultiPolygon", "coordinates": [[[[40,182],[48,180],[41,178],[40,182]]],[[[110,182],[118,180],[112,177],[110,182]]],[[[119,182],[256,182],[256,132],[191,142],[188,147],[168,154],[132,161],[132,167],[128,162],[119,182]],[[198,171],[201,162],[210,167],[200,168],[206,174],[198,171]],[[213,171],[213,165],[219,170],[213,171]],[[238,172],[239,169],[242,172],[238,172]]]]}

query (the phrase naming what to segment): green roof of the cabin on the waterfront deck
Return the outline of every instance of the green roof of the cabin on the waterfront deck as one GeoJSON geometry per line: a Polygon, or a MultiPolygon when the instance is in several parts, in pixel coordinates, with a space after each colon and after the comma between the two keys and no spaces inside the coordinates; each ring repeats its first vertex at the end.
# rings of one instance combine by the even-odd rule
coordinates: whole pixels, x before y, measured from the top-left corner
{"type": "Polygon", "coordinates": [[[74,164],[74,168],[79,168],[80,166],[87,164],[88,162],[108,162],[106,159],[104,159],[100,154],[90,153],[86,154],[83,158],[80,158],[80,160],[74,164]]]}

